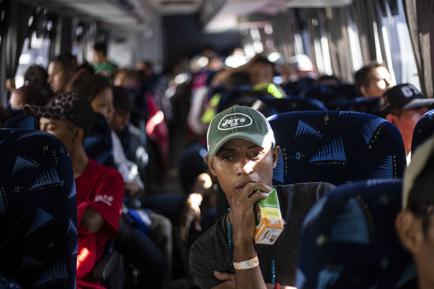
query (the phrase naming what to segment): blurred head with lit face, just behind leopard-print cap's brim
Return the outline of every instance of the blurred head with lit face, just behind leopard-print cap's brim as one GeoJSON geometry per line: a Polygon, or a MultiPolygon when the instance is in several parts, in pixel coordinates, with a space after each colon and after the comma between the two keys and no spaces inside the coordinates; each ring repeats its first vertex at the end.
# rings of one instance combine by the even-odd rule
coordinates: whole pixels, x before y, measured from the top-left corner
{"type": "Polygon", "coordinates": [[[13,110],[23,109],[25,104],[46,105],[49,98],[42,94],[40,88],[33,85],[24,85],[10,94],[10,108],[13,110]]]}

